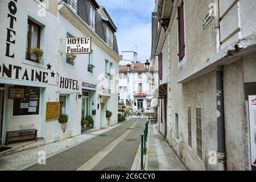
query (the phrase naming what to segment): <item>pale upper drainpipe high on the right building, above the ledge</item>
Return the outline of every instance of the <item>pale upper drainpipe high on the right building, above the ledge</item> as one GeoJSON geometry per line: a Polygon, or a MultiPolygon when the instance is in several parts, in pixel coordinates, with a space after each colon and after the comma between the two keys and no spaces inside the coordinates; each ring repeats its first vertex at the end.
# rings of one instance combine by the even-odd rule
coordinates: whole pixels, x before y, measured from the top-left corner
{"type": "Polygon", "coordinates": [[[220,51],[220,4],[219,0],[214,0],[214,31],[216,37],[216,52],[220,51]]]}

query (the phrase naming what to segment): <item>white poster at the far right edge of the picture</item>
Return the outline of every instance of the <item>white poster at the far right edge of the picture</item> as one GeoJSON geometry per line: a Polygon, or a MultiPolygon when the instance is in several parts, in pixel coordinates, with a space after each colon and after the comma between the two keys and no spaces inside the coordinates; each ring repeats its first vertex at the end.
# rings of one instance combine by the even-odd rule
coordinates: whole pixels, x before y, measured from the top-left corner
{"type": "Polygon", "coordinates": [[[256,166],[256,96],[249,96],[251,165],[256,166]]]}

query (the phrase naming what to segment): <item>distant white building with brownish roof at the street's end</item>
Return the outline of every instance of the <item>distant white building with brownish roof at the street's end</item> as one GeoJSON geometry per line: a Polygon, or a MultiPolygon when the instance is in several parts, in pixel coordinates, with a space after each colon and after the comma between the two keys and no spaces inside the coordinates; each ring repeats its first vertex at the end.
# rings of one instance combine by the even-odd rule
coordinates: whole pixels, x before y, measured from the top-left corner
{"type": "Polygon", "coordinates": [[[143,63],[119,65],[120,102],[134,111],[151,112],[154,74],[146,72],[143,63]]]}

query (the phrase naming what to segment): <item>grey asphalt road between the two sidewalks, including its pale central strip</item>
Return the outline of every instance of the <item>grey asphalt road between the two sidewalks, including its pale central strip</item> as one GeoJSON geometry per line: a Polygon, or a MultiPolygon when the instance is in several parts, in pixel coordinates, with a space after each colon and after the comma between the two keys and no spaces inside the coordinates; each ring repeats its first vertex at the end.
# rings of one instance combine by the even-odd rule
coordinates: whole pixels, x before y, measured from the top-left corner
{"type": "Polygon", "coordinates": [[[92,166],[91,170],[96,171],[129,171],[141,142],[145,123],[146,119],[130,119],[113,130],[48,158],[46,165],[35,164],[25,170],[74,171],[89,164],[92,166]],[[105,148],[109,148],[108,152],[105,148]],[[98,156],[104,157],[101,159],[98,156]]]}

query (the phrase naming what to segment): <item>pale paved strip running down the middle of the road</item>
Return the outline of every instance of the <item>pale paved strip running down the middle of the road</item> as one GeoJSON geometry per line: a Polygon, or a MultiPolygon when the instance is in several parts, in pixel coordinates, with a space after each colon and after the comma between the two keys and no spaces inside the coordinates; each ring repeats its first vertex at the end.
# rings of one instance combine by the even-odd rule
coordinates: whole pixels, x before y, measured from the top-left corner
{"type": "MultiPolygon", "coordinates": [[[[130,129],[134,129],[139,120],[135,121],[133,125],[130,126],[130,129]]],[[[127,130],[120,137],[114,140],[114,142],[110,143],[106,146],[102,151],[98,152],[98,154],[94,155],[92,159],[88,160],[88,162],[82,164],[76,171],[90,171],[92,170],[98,163],[101,162],[102,159],[105,158],[122,140],[131,133],[132,130],[127,130]]]]}

